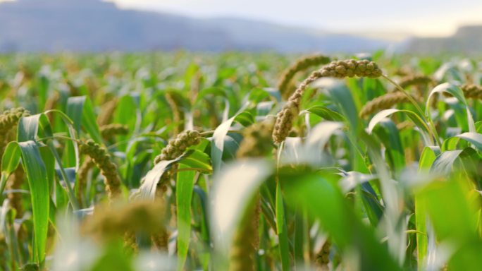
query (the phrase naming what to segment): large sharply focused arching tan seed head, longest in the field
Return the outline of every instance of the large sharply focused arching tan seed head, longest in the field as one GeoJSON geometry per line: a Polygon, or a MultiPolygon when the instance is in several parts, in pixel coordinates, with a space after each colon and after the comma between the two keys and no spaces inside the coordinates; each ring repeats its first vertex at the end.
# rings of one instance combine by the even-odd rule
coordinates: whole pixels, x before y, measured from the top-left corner
{"type": "Polygon", "coordinates": [[[288,137],[292,128],[292,122],[299,113],[299,104],[301,103],[302,96],[309,84],[323,77],[347,78],[354,76],[378,78],[382,76],[382,71],[373,61],[350,59],[333,61],[318,71],[311,73],[311,75],[298,86],[283,109],[278,113],[273,130],[273,140],[276,143],[281,143],[288,137]]]}

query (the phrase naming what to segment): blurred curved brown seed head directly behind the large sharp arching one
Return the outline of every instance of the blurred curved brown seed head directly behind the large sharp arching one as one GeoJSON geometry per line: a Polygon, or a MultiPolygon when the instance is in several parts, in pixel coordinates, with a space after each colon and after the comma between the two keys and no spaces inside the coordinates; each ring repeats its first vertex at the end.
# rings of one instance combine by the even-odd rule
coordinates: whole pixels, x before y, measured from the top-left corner
{"type": "Polygon", "coordinates": [[[311,68],[313,66],[328,64],[329,62],[330,58],[323,55],[306,56],[302,59],[298,59],[295,64],[293,64],[283,72],[283,75],[281,76],[278,83],[279,92],[283,97],[289,97],[289,95],[291,94],[290,83],[297,73],[299,73],[300,71],[306,71],[308,68],[311,68]]]}

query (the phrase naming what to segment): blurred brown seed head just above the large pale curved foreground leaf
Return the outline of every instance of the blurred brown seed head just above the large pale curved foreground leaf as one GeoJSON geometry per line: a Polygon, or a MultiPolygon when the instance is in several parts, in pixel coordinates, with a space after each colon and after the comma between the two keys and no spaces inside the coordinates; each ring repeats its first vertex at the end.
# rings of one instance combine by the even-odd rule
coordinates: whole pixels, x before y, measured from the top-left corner
{"type": "Polygon", "coordinates": [[[237,157],[263,157],[271,149],[271,134],[274,128],[274,118],[268,118],[253,124],[243,132],[243,140],[237,149],[237,157]]]}

